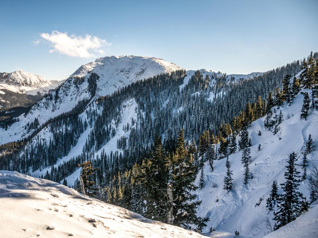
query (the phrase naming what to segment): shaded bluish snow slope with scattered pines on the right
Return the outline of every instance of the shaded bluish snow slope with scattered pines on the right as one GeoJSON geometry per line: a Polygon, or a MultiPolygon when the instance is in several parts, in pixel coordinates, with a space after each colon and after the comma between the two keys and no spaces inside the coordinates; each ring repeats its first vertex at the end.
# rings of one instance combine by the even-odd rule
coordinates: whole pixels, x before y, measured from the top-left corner
{"type": "MultiPolygon", "coordinates": [[[[208,228],[214,227],[216,230],[231,233],[237,230],[240,235],[246,237],[263,237],[269,232],[266,228],[266,217],[269,218],[273,227],[273,211],[268,212],[266,209],[266,199],[271,191],[273,180],[276,179],[278,184],[285,182],[285,166],[289,154],[293,151],[297,153],[297,164],[302,163],[302,153],[309,134],[312,135],[315,142],[316,147],[314,148],[317,148],[318,112],[312,110],[306,121],[300,119],[302,102],[303,96],[298,94],[290,106],[284,102],[279,109],[276,108],[276,114],[279,114],[281,109],[284,115],[284,121],[280,124],[281,129],[276,135],[265,130],[264,118],[252,122],[248,131],[252,139],[252,162],[249,166],[253,178],[247,185],[243,184],[244,167],[241,163],[241,151],[229,156],[234,179],[233,189],[229,193],[223,189],[226,172],[225,158],[214,161],[214,172],[211,172],[208,163],[205,164],[205,187],[197,191],[197,199],[202,200],[202,205],[198,208],[197,213],[203,217],[210,217],[205,232],[208,231],[208,228]],[[258,135],[259,131],[261,136],[258,135]],[[259,144],[261,144],[261,150],[257,151],[259,144]],[[215,185],[213,186],[213,184],[215,185]],[[260,204],[257,205],[259,202],[260,204]]],[[[237,142],[238,139],[239,136],[237,136],[237,142]]],[[[318,163],[317,149],[308,155],[308,160],[307,171],[310,170],[313,163],[318,163]]],[[[301,167],[297,166],[297,169],[301,174],[303,173],[301,167]]],[[[280,189],[279,193],[281,192],[280,189]]],[[[300,192],[309,200],[307,181],[301,183],[300,192]]],[[[318,237],[318,234],[312,237],[318,237]]]]}

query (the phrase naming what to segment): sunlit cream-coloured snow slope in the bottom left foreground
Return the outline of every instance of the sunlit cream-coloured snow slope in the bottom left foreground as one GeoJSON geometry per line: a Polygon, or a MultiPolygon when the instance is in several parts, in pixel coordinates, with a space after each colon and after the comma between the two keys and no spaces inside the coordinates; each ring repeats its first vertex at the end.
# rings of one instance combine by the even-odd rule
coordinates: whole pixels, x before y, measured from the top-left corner
{"type": "Polygon", "coordinates": [[[203,237],[71,188],[0,171],[0,237],[203,237]]]}

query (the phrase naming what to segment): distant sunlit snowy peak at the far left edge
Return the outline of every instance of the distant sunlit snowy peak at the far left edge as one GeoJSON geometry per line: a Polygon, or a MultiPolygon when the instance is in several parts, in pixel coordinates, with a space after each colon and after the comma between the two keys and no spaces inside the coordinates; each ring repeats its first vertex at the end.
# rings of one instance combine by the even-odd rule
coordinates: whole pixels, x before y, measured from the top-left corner
{"type": "Polygon", "coordinates": [[[41,76],[18,70],[12,73],[0,73],[0,89],[17,93],[36,95],[48,93],[63,81],[47,80],[41,76]]]}

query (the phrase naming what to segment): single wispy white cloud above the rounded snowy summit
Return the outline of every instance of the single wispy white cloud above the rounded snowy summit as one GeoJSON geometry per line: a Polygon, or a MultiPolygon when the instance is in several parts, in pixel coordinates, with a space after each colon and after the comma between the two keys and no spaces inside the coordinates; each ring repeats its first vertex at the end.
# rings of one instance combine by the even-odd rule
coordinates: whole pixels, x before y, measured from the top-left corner
{"type": "Polygon", "coordinates": [[[89,58],[95,56],[92,52],[89,51],[103,54],[105,51],[100,48],[111,46],[111,43],[108,43],[106,40],[100,39],[96,36],[68,36],[67,32],[62,33],[57,30],[52,31],[52,34],[42,33],[41,37],[50,42],[54,47],[54,49],[51,49],[49,51],[50,53],[57,51],[60,54],[81,58],[89,58]]]}

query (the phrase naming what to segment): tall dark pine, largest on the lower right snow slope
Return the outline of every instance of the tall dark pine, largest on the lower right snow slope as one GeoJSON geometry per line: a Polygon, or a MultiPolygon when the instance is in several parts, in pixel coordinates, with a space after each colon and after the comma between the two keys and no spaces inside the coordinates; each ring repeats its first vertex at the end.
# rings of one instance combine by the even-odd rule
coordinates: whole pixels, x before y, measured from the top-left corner
{"type": "Polygon", "coordinates": [[[274,213],[274,230],[285,226],[287,223],[294,221],[304,211],[302,194],[298,191],[300,184],[300,172],[296,169],[296,154],[293,152],[289,155],[287,171],[285,172],[286,182],[280,184],[283,193],[277,201],[277,211],[274,213]]]}

